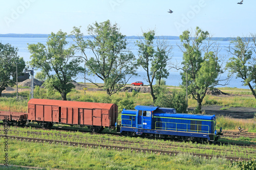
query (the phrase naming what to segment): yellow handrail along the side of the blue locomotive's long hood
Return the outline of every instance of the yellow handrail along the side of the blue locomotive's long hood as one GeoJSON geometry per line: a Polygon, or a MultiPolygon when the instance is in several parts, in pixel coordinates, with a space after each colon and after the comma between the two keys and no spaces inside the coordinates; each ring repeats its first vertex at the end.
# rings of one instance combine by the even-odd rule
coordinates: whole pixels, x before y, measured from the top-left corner
{"type": "MultiPolygon", "coordinates": [[[[199,133],[199,131],[200,132],[203,132],[203,133],[210,133],[210,128],[209,128],[209,126],[208,125],[197,125],[197,124],[183,124],[183,123],[174,123],[174,122],[155,122],[155,130],[157,130],[157,128],[158,129],[162,129],[162,130],[175,130],[175,131],[186,131],[186,132],[197,132],[197,133],[199,133]],[[162,125],[164,125],[165,124],[165,128],[163,128],[163,127],[157,127],[157,123],[162,123],[162,125]],[[163,124],[164,123],[164,124],[163,124]],[[167,128],[167,124],[174,124],[175,125],[175,127],[174,128],[167,128]],[[186,125],[186,129],[177,129],[177,125],[186,125]],[[196,125],[197,126],[197,130],[188,130],[188,125],[190,126],[190,125],[196,125]],[[208,131],[205,131],[205,130],[198,130],[199,128],[199,126],[201,126],[201,127],[203,127],[203,126],[205,126],[205,127],[207,127],[207,129],[208,129],[208,131]]],[[[202,128],[201,128],[202,129],[202,128]]]]}

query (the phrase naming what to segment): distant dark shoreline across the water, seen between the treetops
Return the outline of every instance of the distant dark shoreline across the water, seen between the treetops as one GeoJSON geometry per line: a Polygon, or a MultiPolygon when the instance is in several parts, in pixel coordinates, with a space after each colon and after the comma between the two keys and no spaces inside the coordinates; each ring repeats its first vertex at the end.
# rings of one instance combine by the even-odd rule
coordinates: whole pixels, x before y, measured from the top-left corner
{"type": "MultiPolygon", "coordinates": [[[[48,38],[49,34],[0,34],[0,37],[6,38],[48,38]]],[[[92,38],[92,36],[83,36],[84,38],[92,38]]],[[[159,36],[160,39],[179,40],[179,36],[159,36]]],[[[139,39],[139,36],[126,36],[127,39],[139,39]]],[[[231,37],[212,37],[213,41],[231,41],[231,37]]]]}

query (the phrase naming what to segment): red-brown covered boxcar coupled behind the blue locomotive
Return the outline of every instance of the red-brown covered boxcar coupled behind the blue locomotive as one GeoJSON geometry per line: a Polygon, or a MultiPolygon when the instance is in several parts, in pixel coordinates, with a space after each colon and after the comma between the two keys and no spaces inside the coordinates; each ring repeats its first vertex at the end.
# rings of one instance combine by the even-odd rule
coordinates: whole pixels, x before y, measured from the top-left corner
{"type": "Polygon", "coordinates": [[[31,99],[28,102],[28,120],[36,121],[45,128],[53,123],[84,125],[93,130],[114,128],[117,114],[116,104],[47,99],[31,99]]]}

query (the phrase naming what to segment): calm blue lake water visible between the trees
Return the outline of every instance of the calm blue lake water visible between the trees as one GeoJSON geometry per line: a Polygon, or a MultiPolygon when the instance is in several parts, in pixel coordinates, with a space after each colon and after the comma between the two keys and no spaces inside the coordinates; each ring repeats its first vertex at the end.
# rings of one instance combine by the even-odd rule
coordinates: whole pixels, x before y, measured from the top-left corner
{"type": "MultiPolygon", "coordinates": [[[[70,44],[73,43],[73,40],[71,38],[67,39],[69,41],[70,44]]],[[[6,38],[6,37],[0,37],[0,42],[2,43],[10,43],[12,46],[18,47],[18,55],[19,57],[23,57],[24,60],[30,61],[30,53],[28,51],[28,44],[34,44],[34,43],[43,43],[46,44],[47,38],[6,38]]],[[[129,48],[131,49],[131,51],[133,52],[133,54],[135,56],[138,55],[138,48],[135,45],[136,39],[129,39],[130,44],[129,44],[129,48]]],[[[173,58],[171,60],[172,63],[181,63],[182,62],[182,52],[180,51],[180,48],[178,47],[177,44],[180,44],[180,40],[168,40],[168,43],[170,45],[173,46],[173,58]]],[[[218,41],[221,51],[220,51],[220,55],[222,57],[224,57],[225,62],[228,61],[228,58],[230,56],[228,56],[228,53],[226,52],[226,48],[229,45],[229,41],[218,41]]],[[[93,57],[93,54],[91,51],[87,52],[87,55],[90,57],[93,57]]],[[[83,66],[84,64],[82,64],[81,66],[83,66]]],[[[225,66],[225,63],[223,64],[223,67],[225,66]]],[[[35,71],[37,72],[37,71],[35,71]]],[[[132,77],[129,80],[129,84],[135,82],[135,81],[143,81],[144,84],[148,84],[145,80],[145,71],[142,68],[138,69],[138,77],[132,77]]],[[[227,72],[225,72],[224,74],[220,75],[221,78],[225,78],[227,76],[227,72]]],[[[89,77],[87,75],[87,77],[89,77]]],[[[91,77],[92,79],[95,79],[96,82],[98,83],[102,83],[102,81],[96,77],[91,77]]],[[[76,81],[77,82],[83,82],[83,75],[77,75],[76,81]]],[[[242,79],[235,79],[232,78],[231,81],[229,82],[229,85],[226,85],[225,87],[237,87],[237,88],[246,88],[248,89],[247,86],[242,86],[242,79]]],[[[179,84],[181,84],[181,76],[180,76],[180,72],[177,71],[176,69],[171,69],[169,71],[169,77],[168,79],[166,79],[166,85],[172,85],[172,86],[179,86],[179,84]]],[[[154,82],[155,83],[155,82],[154,82]]],[[[217,86],[217,87],[223,87],[223,86],[217,86]]]]}

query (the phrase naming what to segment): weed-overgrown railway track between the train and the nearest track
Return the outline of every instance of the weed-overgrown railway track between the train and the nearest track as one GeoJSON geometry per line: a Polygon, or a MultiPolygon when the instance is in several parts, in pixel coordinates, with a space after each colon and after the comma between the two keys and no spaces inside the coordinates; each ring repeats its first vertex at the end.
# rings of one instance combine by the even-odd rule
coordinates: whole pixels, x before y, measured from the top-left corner
{"type": "MultiPolygon", "coordinates": [[[[151,146],[155,146],[155,150],[163,150],[163,151],[173,151],[173,152],[176,152],[176,151],[182,151],[182,152],[186,152],[186,153],[189,153],[191,151],[196,151],[196,150],[201,150],[201,151],[204,151],[204,150],[213,150],[215,155],[223,155],[223,153],[229,153],[231,155],[237,155],[237,153],[243,153],[244,150],[242,150],[242,148],[246,148],[248,149],[247,151],[247,154],[249,155],[252,155],[252,157],[256,157],[256,151],[255,151],[255,148],[256,148],[256,145],[245,145],[245,144],[242,144],[240,145],[240,147],[231,147],[231,148],[221,148],[221,149],[212,149],[212,146],[210,145],[201,145],[199,147],[199,145],[196,145],[196,147],[190,147],[189,144],[185,144],[185,145],[182,145],[182,144],[178,144],[177,141],[175,142],[168,142],[168,143],[161,143],[159,144],[159,140],[152,140],[152,141],[147,141],[146,143],[144,143],[143,141],[130,141],[129,139],[127,140],[119,140],[119,139],[111,139],[109,136],[105,136],[105,134],[97,134],[97,135],[91,135],[88,137],[84,137],[84,135],[81,135],[81,134],[60,134],[60,133],[51,133],[51,131],[43,131],[43,132],[30,132],[30,131],[27,131],[27,132],[19,132],[19,130],[10,130],[9,132],[12,132],[10,133],[10,135],[12,136],[26,136],[26,137],[31,137],[31,138],[42,138],[42,136],[44,136],[45,139],[53,139],[53,140],[67,140],[69,139],[69,141],[79,141],[80,143],[100,143],[101,145],[106,145],[106,144],[109,144],[111,143],[112,144],[112,147],[115,145],[115,147],[118,147],[118,146],[126,146],[126,147],[129,147],[129,148],[134,148],[134,146],[136,146],[137,148],[148,148],[148,145],[151,145],[151,146]],[[177,149],[179,148],[179,149],[177,149]],[[253,156],[254,155],[254,156],[253,156]]],[[[230,146],[230,143],[217,143],[219,145],[229,145],[230,146]]],[[[215,144],[216,145],[216,144],[215,144]]],[[[239,146],[238,144],[235,144],[237,146],[239,146]]],[[[200,152],[199,152],[200,153],[200,152]]],[[[202,153],[202,152],[201,152],[202,153]]]]}

